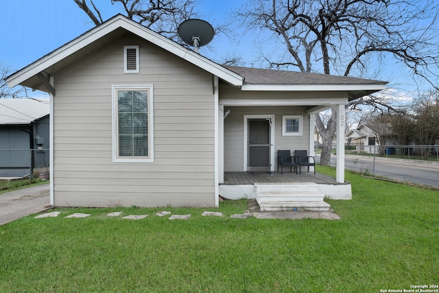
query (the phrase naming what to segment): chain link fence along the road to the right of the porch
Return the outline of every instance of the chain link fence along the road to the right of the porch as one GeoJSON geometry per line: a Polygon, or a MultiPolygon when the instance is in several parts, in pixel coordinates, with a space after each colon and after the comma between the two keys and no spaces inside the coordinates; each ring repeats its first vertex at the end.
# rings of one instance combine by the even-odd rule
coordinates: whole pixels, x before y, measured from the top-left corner
{"type": "Polygon", "coordinates": [[[439,188],[439,145],[346,145],[345,150],[346,169],[439,188]]]}

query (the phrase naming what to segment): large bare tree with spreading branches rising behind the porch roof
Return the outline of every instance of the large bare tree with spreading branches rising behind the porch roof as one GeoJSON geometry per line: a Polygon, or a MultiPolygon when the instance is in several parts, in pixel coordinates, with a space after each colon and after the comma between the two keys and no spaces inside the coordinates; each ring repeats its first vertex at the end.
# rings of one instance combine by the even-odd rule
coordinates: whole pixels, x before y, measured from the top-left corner
{"type": "MultiPolygon", "coordinates": [[[[254,0],[236,14],[249,29],[271,32],[272,41],[285,46],[283,54],[265,51],[262,58],[268,67],[371,78],[379,70],[370,66],[371,59],[381,60],[382,66],[385,60],[393,60],[410,69],[414,80],[420,78],[438,89],[437,1],[254,0]]],[[[360,106],[371,106],[378,113],[398,110],[377,96],[346,105],[360,106]]],[[[316,128],[330,145],[335,137],[332,122],[324,124],[316,115],[316,128]]],[[[324,162],[329,162],[327,150],[322,152],[324,162]]]]}

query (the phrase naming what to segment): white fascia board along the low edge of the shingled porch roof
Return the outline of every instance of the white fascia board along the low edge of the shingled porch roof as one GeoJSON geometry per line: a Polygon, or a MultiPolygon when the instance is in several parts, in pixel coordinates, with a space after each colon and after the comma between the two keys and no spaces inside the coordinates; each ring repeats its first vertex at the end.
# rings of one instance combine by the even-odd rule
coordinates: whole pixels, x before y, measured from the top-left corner
{"type": "Polygon", "coordinates": [[[385,84],[243,84],[242,91],[381,91],[385,84]]]}

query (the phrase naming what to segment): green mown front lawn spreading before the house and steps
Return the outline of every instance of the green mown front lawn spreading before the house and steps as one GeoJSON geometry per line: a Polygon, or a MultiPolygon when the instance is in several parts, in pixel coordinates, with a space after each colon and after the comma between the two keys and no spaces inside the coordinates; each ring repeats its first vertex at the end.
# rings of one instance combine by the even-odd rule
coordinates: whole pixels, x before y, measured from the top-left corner
{"type": "MultiPolygon", "coordinates": [[[[334,175],[328,167],[318,172],[334,175]]],[[[57,209],[0,226],[0,292],[380,292],[439,283],[439,194],[346,172],[342,220],[232,219],[205,209],[57,209]],[[157,211],[191,213],[167,220],[157,211]],[[149,214],[143,220],[106,213],[149,214]],[[64,219],[74,212],[89,218],[64,219]]]]}

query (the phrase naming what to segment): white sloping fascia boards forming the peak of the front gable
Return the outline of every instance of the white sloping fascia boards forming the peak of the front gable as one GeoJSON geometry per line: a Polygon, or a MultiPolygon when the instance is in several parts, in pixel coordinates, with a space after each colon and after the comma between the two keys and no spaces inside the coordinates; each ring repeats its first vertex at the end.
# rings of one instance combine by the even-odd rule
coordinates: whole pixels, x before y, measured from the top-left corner
{"type": "Polygon", "coordinates": [[[217,65],[215,62],[212,62],[211,60],[204,58],[199,54],[186,49],[185,47],[177,45],[168,38],[148,30],[139,23],[134,23],[133,21],[126,19],[125,16],[118,16],[114,19],[110,19],[103,25],[95,27],[93,30],[76,38],[75,40],[72,40],[70,43],[60,47],[44,58],[32,63],[24,69],[21,69],[21,71],[18,71],[14,75],[11,75],[10,78],[6,80],[8,82],[8,86],[13,87],[29,78],[32,78],[32,76],[36,75],[36,73],[39,73],[47,67],[56,64],[56,62],[67,58],[67,56],[74,54],[75,51],[86,47],[86,45],[89,45],[95,40],[106,36],[106,34],[109,34],[119,27],[123,27],[124,29],[128,30],[128,32],[141,36],[145,40],[148,40],[151,43],[154,43],[155,45],[158,45],[159,47],[171,52],[172,54],[191,62],[193,65],[209,71],[213,75],[218,76],[222,80],[229,82],[234,86],[241,86],[243,83],[244,78],[242,78],[240,75],[233,73],[221,65],[217,65]]]}

